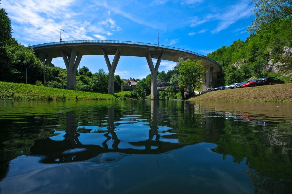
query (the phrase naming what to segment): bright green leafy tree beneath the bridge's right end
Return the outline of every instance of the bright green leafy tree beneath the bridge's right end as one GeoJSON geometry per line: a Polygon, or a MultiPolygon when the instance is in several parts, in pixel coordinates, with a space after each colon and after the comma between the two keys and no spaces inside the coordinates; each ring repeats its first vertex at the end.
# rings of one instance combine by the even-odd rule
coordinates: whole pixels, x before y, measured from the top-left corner
{"type": "Polygon", "coordinates": [[[202,60],[178,60],[178,72],[181,79],[181,87],[191,87],[192,92],[203,84],[204,74],[207,72],[202,60]]]}

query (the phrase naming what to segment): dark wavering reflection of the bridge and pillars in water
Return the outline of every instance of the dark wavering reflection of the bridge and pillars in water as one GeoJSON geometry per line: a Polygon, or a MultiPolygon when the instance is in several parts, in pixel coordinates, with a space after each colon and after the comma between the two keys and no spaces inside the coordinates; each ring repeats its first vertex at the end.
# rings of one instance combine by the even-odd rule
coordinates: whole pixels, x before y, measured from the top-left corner
{"type": "MultiPolygon", "coordinates": [[[[55,141],[50,138],[36,140],[34,146],[31,147],[31,154],[43,156],[43,163],[62,163],[77,161],[92,161],[96,163],[116,162],[126,155],[157,155],[167,153],[171,150],[184,147],[184,144],[170,143],[160,141],[160,134],[157,126],[157,101],[151,101],[151,124],[148,133],[148,139],[145,141],[129,142],[131,148],[119,148],[121,140],[118,138],[114,126],[114,106],[108,110],[108,127],[105,141],[102,146],[99,145],[83,145],[79,141],[80,134],[76,132],[77,122],[76,115],[67,113],[67,126],[64,140],[55,141]],[[155,136],[155,139],[153,140],[155,136]],[[107,143],[113,141],[112,148],[107,143]],[[144,146],[145,149],[135,149],[135,147],[144,146]]],[[[173,136],[170,138],[177,138],[173,136]]]]}

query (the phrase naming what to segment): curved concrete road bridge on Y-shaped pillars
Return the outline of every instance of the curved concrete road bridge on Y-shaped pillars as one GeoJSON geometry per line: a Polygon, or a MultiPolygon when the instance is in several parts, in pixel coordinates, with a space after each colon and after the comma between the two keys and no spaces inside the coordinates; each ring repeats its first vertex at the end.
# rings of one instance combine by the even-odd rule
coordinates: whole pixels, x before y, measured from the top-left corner
{"type": "Polygon", "coordinates": [[[75,40],[51,42],[31,46],[41,61],[50,64],[53,58],[62,57],[67,68],[66,89],[76,90],[76,70],[84,55],[103,55],[109,71],[108,93],[114,94],[114,72],[121,56],[145,57],[152,75],[151,98],[157,98],[157,71],[161,60],[177,62],[178,58],[203,60],[203,65],[208,71],[203,83],[203,89],[208,88],[213,77],[222,71],[221,66],[206,56],[180,48],[141,43],[131,41],[113,40],[75,40]],[[114,55],[110,63],[108,55],[114,55]],[[157,59],[153,64],[152,58],[157,59]]]}

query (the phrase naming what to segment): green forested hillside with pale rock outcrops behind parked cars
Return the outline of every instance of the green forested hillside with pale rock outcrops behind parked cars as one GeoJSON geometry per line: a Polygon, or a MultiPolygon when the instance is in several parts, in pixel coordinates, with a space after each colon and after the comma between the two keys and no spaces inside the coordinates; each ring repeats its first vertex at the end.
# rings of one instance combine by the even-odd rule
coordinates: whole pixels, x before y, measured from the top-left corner
{"type": "Polygon", "coordinates": [[[284,81],[292,76],[292,20],[284,17],[250,34],[245,41],[234,41],[207,56],[223,67],[215,86],[275,76],[284,81]]]}

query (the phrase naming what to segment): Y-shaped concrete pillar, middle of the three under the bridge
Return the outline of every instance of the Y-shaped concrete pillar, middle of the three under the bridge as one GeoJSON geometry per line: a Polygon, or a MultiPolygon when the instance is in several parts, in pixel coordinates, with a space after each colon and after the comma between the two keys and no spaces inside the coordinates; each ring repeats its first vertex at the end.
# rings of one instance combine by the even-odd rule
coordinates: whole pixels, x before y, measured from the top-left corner
{"type": "Polygon", "coordinates": [[[105,57],[105,62],[107,63],[107,68],[109,70],[109,85],[108,85],[108,93],[114,95],[114,72],[117,68],[119,59],[121,57],[119,49],[117,49],[114,60],[112,61],[112,64],[110,64],[109,57],[107,56],[107,53],[102,48],[103,56],[105,57]]]}

